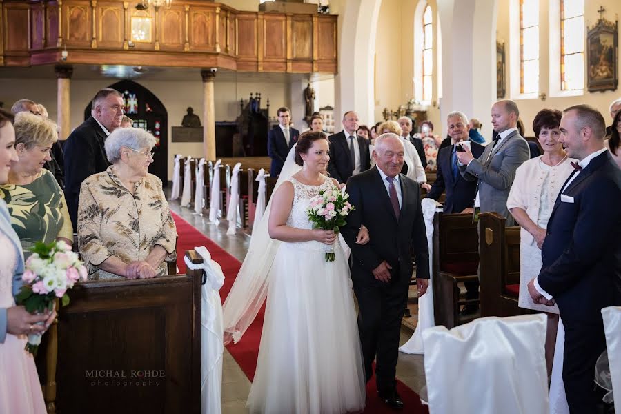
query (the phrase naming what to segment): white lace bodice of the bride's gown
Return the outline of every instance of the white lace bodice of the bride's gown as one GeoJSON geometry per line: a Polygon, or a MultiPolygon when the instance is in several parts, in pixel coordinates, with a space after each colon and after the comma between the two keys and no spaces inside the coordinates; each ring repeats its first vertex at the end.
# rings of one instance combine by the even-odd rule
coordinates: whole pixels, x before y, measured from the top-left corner
{"type": "MultiPolygon", "coordinates": [[[[319,192],[333,188],[334,185],[332,180],[330,177],[326,177],[324,184],[320,186],[308,186],[306,184],[302,184],[293,177],[290,177],[288,181],[293,184],[293,206],[291,206],[291,213],[287,219],[286,225],[293,228],[313,228],[313,224],[311,224],[311,221],[308,220],[308,213],[306,213],[306,210],[308,209],[308,206],[311,205],[311,199],[319,195],[319,192]]],[[[337,243],[338,239],[335,246],[337,246],[337,243]]],[[[294,244],[295,246],[303,249],[326,251],[325,244],[315,241],[290,244],[294,244]]]]}

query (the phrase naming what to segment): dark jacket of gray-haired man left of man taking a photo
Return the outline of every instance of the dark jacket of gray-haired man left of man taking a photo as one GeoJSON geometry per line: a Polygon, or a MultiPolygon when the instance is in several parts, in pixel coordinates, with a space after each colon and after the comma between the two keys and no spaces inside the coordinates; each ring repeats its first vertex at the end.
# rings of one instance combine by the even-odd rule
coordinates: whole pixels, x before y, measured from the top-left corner
{"type": "MultiPolygon", "coordinates": [[[[480,157],[485,149],[484,146],[470,141],[472,155],[475,158],[480,157]]],[[[466,181],[457,170],[457,179],[453,178],[453,169],[451,166],[451,154],[453,146],[442,148],[437,155],[437,177],[431,190],[427,194],[428,198],[440,198],[442,192],[446,190],[446,201],[444,201],[444,213],[462,213],[464,208],[473,207],[474,199],[477,195],[477,183],[475,181],[466,181]]]]}

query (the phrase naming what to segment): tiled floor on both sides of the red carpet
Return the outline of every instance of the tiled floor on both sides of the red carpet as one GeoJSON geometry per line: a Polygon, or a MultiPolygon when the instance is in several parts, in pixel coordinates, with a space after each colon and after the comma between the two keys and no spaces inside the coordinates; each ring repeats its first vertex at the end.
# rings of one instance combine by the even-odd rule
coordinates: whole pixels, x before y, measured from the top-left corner
{"type": "MultiPolygon", "coordinates": [[[[212,239],[213,242],[224,248],[235,258],[240,261],[244,260],[250,237],[244,234],[242,230],[238,229],[233,236],[226,235],[228,226],[226,221],[223,221],[219,226],[210,224],[206,215],[196,215],[190,208],[181,208],[177,201],[170,201],[170,209],[186,219],[188,223],[195,226],[197,230],[212,239]]],[[[182,237],[183,235],[179,236],[182,237]]],[[[411,296],[415,297],[415,287],[411,289],[411,296]]],[[[404,344],[409,339],[416,324],[418,306],[410,304],[408,307],[411,309],[412,316],[404,319],[400,344],[404,344]]],[[[413,389],[413,391],[419,393],[425,384],[423,356],[400,353],[399,362],[397,363],[397,378],[413,389]]],[[[246,398],[249,391],[250,380],[248,380],[242,368],[239,368],[235,359],[225,349],[222,367],[222,413],[248,413],[246,410],[246,398]]]]}

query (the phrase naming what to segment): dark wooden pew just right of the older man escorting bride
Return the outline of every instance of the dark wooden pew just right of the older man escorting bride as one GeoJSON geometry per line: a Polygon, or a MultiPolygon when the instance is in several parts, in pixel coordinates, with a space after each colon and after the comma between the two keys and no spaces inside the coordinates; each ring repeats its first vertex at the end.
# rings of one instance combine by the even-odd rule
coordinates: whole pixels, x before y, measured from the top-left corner
{"type": "Polygon", "coordinates": [[[461,299],[458,284],[477,279],[477,227],[469,214],[435,213],[433,217],[433,315],[436,325],[453,328],[476,315],[460,316],[460,306],[478,299],[461,299]]]}

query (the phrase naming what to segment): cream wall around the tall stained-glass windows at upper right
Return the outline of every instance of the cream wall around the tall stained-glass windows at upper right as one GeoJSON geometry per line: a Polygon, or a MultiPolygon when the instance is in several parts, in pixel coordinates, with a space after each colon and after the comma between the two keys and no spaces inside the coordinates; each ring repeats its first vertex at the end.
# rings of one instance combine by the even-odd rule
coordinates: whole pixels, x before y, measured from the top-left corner
{"type": "MultiPolygon", "coordinates": [[[[540,0],[540,93],[544,92],[547,97],[545,101],[541,99],[520,99],[520,97],[511,96],[511,86],[509,84],[509,79],[511,76],[517,76],[519,79],[519,72],[511,72],[511,53],[509,52],[509,20],[511,18],[510,15],[510,1],[511,0],[502,0],[499,4],[498,9],[498,20],[497,20],[497,39],[500,41],[504,41],[506,43],[506,68],[507,68],[507,84],[506,84],[506,97],[514,99],[517,103],[517,106],[520,108],[520,117],[524,121],[524,126],[526,128],[527,136],[534,136],[533,132],[533,119],[537,112],[544,108],[555,108],[559,110],[563,110],[572,105],[576,105],[579,103],[587,103],[589,105],[594,106],[602,115],[604,115],[604,119],[607,124],[611,123],[610,115],[609,115],[609,105],[611,101],[618,99],[621,97],[621,90],[617,89],[615,91],[606,91],[606,92],[588,92],[586,90],[586,69],[585,69],[585,81],[584,81],[584,94],[573,97],[551,97],[551,90],[549,87],[549,66],[550,66],[550,57],[549,57],[549,48],[550,44],[553,41],[558,41],[557,39],[551,39],[550,37],[550,24],[549,24],[549,10],[548,10],[548,2],[540,0]]],[[[598,21],[599,14],[597,12],[600,5],[606,9],[604,12],[604,19],[609,21],[615,21],[617,19],[615,16],[621,14],[621,2],[617,0],[585,0],[584,1],[584,38],[586,42],[586,33],[589,30],[589,26],[594,26],[598,21]]],[[[517,18],[517,17],[516,17],[517,18]]],[[[585,43],[586,45],[586,43],[585,43]]],[[[518,55],[519,56],[519,55],[518,55]]],[[[519,58],[518,58],[519,59],[519,58]]],[[[586,48],[584,59],[586,61],[586,48]]],[[[619,57],[618,57],[619,59],[619,57]]],[[[620,62],[621,63],[621,62],[620,62]]],[[[518,64],[519,68],[519,64],[518,64]]],[[[621,65],[618,64],[618,77],[621,77],[621,65]]],[[[560,75],[558,75],[560,76],[560,75]]],[[[489,124],[491,119],[484,118],[481,119],[482,122],[489,124]]],[[[486,137],[490,139],[490,137],[486,137]]]]}

